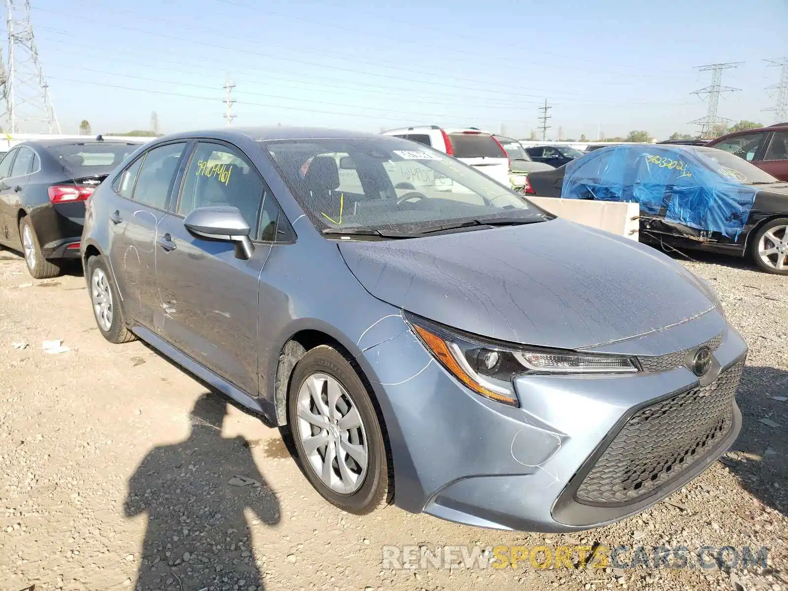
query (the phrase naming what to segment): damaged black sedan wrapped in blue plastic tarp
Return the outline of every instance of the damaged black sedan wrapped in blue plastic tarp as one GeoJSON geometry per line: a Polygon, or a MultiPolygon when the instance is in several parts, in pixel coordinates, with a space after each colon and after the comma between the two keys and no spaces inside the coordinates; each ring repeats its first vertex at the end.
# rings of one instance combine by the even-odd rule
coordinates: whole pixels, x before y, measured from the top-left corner
{"type": "Polygon", "coordinates": [[[622,144],[530,173],[536,195],[641,204],[641,240],[748,256],[788,275],[788,183],[709,147],[622,144]]]}

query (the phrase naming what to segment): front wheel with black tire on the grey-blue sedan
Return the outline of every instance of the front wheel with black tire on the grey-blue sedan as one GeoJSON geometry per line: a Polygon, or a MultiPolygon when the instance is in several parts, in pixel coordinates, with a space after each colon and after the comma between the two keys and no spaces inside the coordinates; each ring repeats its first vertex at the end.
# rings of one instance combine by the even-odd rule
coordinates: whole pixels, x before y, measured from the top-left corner
{"type": "Polygon", "coordinates": [[[364,381],[351,365],[351,358],[328,345],[307,351],[291,376],[288,423],[303,472],[325,500],[355,515],[366,515],[390,503],[393,494],[392,470],[381,420],[364,381]],[[340,388],[335,390],[330,387],[332,384],[340,388]],[[310,392],[318,392],[327,410],[329,389],[340,393],[334,403],[334,419],[327,420],[324,427],[314,426],[303,418],[307,416],[305,413],[311,414],[310,418],[315,422],[325,418],[326,413],[318,411],[310,392]],[[351,420],[353,408],[360,418],[360,428],[341,429],[343,419],[346,425],[354,423],[351,420]],[[314,450],[310,445],[310,452],[307,452],[304,443],[307,437],[320,437],[320,441],[325,440],[325,445],[316,446],[314,450]],[[330,448],[332,444],[333,448],[330,448]],[[366,466],[361,466],[357,461],[358,450],[365,446],[367,461],[366,466]],[[346,452],[346,449],[354,450],[354,455],[346,452]],[[323,460],[332,453],[331,467],[326,470],[323,460]],[[340,457],[347,470],[341,470],[340,457]],[[321,474],[328,474],[333,486],[324,481],[321,474]],[[348,475],[351,478],[346,478],[348,475]],[[352,478],[354,476],[355,481],[352,478]]]}

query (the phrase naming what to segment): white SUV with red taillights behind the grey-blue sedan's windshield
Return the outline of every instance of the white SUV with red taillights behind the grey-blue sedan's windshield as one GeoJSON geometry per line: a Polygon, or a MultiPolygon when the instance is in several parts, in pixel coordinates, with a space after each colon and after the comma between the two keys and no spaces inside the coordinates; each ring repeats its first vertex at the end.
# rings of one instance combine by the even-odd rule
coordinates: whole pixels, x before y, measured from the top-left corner
{"type": "Polygon", "coordinates": [[[504,148],[489,132],[476,128],[440,128],[437,125],[389,129],[385,136],[396,136],[423,143],[425,146],[454,156],[485,173],[501,184],[510,186],[509,158],[504,148]]]}

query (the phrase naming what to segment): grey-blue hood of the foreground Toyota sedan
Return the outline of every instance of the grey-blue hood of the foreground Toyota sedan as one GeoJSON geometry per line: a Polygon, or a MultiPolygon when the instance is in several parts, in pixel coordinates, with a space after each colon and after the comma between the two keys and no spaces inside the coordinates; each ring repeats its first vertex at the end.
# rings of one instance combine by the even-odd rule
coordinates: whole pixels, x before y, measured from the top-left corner
{"type": "Polygon", "coordinates": [[[589,348],[716,305],[712,288],[666,255],[560,218],[338,247],[378,299],[513,343],[589,348]]]}

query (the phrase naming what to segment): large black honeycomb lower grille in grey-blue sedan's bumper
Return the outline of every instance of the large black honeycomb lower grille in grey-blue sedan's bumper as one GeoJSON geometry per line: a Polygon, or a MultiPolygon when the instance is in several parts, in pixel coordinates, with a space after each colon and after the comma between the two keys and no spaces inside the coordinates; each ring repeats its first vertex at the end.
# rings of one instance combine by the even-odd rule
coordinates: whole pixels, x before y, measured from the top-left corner
{"type": "Polygon", "coordinates": [[[744,361],[716,381],[637,411],[583,479],[575,497],[629,503],[681,474],[730,429],[744,361]]]}

